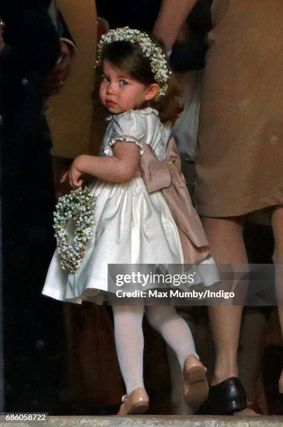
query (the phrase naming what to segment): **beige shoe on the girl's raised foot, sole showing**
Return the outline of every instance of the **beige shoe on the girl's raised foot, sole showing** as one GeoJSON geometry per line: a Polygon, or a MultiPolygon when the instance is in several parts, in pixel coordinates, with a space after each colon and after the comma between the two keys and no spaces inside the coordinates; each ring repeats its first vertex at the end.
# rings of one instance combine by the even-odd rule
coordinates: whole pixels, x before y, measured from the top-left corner
{"type": "Polygon", "coordinates": [[[184,361],[184,399],[196,410],[208,397],[206,369],[193,354],[184,361]]]}

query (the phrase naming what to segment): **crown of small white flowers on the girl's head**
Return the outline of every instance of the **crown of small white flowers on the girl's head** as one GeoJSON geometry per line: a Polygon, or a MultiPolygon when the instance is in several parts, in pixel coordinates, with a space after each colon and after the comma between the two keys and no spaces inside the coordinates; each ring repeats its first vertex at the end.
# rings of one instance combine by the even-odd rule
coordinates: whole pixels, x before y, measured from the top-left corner
{"type": "Polygon", "coordinates": [[[137,29],[129,27],[117,28],[110,30],[107,34],[101,36],[97,48],[96,66],[101,65],[101,54],[103,46],[115,41],[127,41],[129,43],[137,43],[143,52],[143,56],[150,59],[152,73],[154,80],[159,84],[158,96],[165,96],[168,89],[168,80],[170,77],[170,70],[166,60],[166,55],[161,47],[157,46],[147,33],[143,33],[137,29]]]}

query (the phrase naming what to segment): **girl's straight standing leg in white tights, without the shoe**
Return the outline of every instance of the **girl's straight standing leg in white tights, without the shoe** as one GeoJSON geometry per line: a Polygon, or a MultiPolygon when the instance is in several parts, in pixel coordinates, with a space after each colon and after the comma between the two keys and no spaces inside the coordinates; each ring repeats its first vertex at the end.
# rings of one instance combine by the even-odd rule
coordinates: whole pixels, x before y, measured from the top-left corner
{"type": "Polygon", "coordinates": [[[143,304],[113,306],[114,336],[126,394],[143,383],[143,304]]]}

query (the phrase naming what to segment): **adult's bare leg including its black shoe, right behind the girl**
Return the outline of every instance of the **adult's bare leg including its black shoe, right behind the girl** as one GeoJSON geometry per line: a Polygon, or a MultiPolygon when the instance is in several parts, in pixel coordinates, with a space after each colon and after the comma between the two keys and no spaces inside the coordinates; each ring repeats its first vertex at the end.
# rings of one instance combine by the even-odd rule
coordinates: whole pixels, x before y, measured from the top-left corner
{"type": "MultiPolygon", "coordinates": [[[[218,264],[247,264],[242,218],[203,218],[203,226],[218,264]]],[[[235,284],[231,283],[233,289],[235,284]]],[[[247,407],[237,363],[242,306],[210,306],[208,312],[216,350],[215,375],[199,413],[231,414],[247,407]]]]}

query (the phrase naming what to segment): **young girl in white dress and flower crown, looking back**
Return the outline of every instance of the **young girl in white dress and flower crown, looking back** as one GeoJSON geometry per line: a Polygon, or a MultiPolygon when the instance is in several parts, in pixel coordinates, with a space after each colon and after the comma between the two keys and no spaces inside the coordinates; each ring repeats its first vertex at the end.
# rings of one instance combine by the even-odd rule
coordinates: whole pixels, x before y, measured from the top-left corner
{"type": "MultiPolygon", "coordinates": [[[[149,194],[139,172],[145,149],[151,147],[158,160],[164,160],[170,137],[170,127],[150,107],[150,101],[162,107],[161,98],[168,89],[164,53],[145,33],[126,27],[102,38],[98,61],[100,98],[111,114],[101,153],[75,158],[63,177],[73,188],[82,185],[85,174],[97,178],[92,186],[97,197],[94,237],[75,274],[61,269],[55,252],[43,289],[45,295],[79,304],[106,299],[108,264],[182,264],[185,259],[180,230],[163,193],[149,194]]],[[[173,102],[167,99],[167,105],[169,101],[173,102]]],[[[189,198],[183,200],[186,203],[189,198]]],[[[198,230],[191,230],[192,240],[202,234],[198,219],[194,217],[198,230]]],[[[196,259],[201,261],[208,255],[207,241],[205,237],[196,241],[203,242],[203,248],[196,249],[201,254],[196,259]]],[[[149,405],[143,382],[144,312],[175,351],[184,369],[185,398],[197,407],[208,395],[208,384],[187,323],[173,306],[145,307],[143,299],[135,303],[113,305],[117,357],[126,384],[119,414],[142,414],[149,405]]]]}

